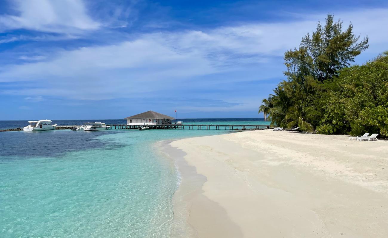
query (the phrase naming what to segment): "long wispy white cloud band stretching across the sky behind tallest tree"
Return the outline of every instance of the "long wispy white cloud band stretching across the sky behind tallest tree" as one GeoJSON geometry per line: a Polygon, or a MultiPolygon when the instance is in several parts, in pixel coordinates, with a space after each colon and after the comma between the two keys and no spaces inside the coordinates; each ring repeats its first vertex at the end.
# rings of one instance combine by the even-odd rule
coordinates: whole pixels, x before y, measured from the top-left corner
{"type": "MultiPolygon", "coordinates": [[[[386,12],[374,9],[338,15],[343,16],[344,27],[352,21],[356,34],[368,34],[373,48],[388,43],[388,31],[375,27],[388,22],[388,14],[383,14],[386,12]]],[[[61,50],[52,60],[1,67],[0,82],[37,84],[32,88],[3,89],[0,93],[94,100],[142,98],[171,88],[178,91],[195,87],[198,91],[227,83],[233,86],[248,76],[256,80],[279,77],[284,66],[278,61],[275,64],[275,60],[285,50],[298,46],[301,38],[324,18],[325,14],[310,15],[298,21],[143,34],[115,45],[61,50]],[[222,77],[209,77],[220,73],[222,77]]],[[[377,47],[369,52],[383,50],[377,47]]],[[[229,101],[228,95],[220,99],[229,101]]],[[[233,110],[253,106],[248,101],[233,110]]]]}

